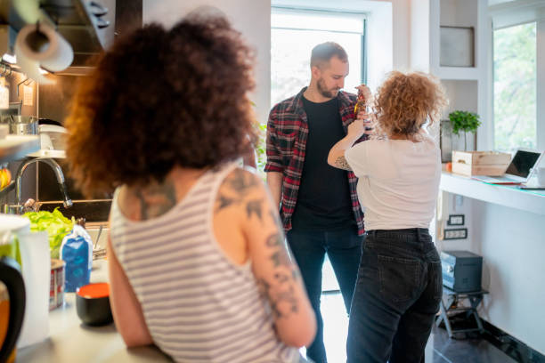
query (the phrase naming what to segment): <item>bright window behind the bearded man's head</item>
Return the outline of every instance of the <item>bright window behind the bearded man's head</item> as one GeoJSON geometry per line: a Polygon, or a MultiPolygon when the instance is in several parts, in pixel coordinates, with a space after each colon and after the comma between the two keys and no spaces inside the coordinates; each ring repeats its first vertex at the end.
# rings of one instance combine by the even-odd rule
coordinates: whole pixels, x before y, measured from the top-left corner
{"type": "Polygon", "coordinates": [[[345,90],[365,81],[365,14],[273,7],[271,13],[271,102],[285,100],[310,82],[310,56],[316,44],[345,48],[350,73],[345,90]]]}

